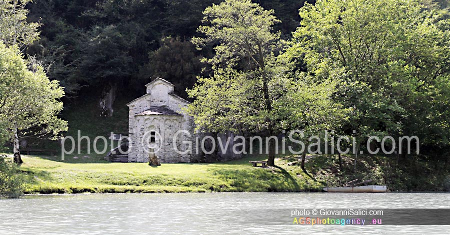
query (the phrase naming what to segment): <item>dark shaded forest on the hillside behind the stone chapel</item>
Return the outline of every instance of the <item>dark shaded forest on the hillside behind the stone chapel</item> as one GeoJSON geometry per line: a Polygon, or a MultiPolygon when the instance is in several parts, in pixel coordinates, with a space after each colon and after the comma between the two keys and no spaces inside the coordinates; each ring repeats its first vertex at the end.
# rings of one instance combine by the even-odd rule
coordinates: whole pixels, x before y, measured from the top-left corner
{"type": "MultiPolygon", "coordinates": [[[[168,42],[160,39],[170,36],[173,39],[180,38],[181,41],[190,40],[192,36],[198,35],[195,29],[201,23],[203,9],[212,3],[221,1],[33,1],[26,5],[26,9],[29,9],[27,21],[39,21],[42,24],[40,40],[30,44],[24,52],[42,61],[50,80],[58,80],[59,84],[64,87],[66,99],[76,101],[77,93],[81,89],[86,89],[85,87],[90,87],[88,88],[89,92],[98,91],[95,94],[98,97],[101,94],[108,94],[103,97],[113,97],[113,95],[109,95],[114,93],[110,92],[110,86],[104,89],[103,85],[108,83],[111,83],[112,86],[116,84],[117,87],[140,92],[143,84],[149,81],[148,76],[153,76],[153,74],[143,73],[155,64],[162,68],[163,63],[170,59],[158,57],[161,59],[160,62],[149,60],[149,54],[156,56],[156,53],[161,54],[167,51],[165,46],[168,42]],[[107,41],[106,37],[113,38],[115,43],[107,41]],[[102,43],[105,46],[101,45],[102,43]],[[105,75],[108,73],[117,75],[106,77],[105,75]]],[[[303,1],[264,0],[253,2],[260,2],[267,9],[275,9],[277,17],[283,20],[276,24],[275,28],[283,31],[283,38],[290,37],[290,32],[298,24],[298,8],[303,1]]],[[[173,44],[174,49],[178,49],[175,44],[173,44]]],[[[209,48],[196,53],[189,51],[186,55],[182,55],[182,59],[184,61],[196,60],[198,54],[208,57],[209,52],[209,48]],[[188,56],[193,57],[187,58],[188,56]]],[[[185,97],[185,88],[191,88],[191,79],[197,75],[199,75],[197,72],[188,74],[188,82],[185,82],[184,79],[179,82],[175,80],[174,84],[178,83],[175,92],[185,97]]],[[[162,75],[159,76],[162,77],[162,75]]],[[[165,78],[170,80],[168,77],[165,78]]],[[[117,92],[121,90],[123,89],[117,89],[117,92]]],[[[113,99],[109,99],[101,102],[112,103],[112,101],[113,99]]],[[[106,111],[107,115],[110,115],[111,109],[107,107],[102,111],[103,113],[106,111]]]]}

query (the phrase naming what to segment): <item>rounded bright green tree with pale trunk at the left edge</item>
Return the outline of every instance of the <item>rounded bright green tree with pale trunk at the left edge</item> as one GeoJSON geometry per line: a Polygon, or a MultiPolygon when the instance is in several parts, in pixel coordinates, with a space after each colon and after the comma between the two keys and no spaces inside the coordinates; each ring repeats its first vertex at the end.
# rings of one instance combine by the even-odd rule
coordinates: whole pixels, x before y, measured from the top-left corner
{"type": "Polygon", "coordinates": [[[0,43],[0,120],[11,130],[17,164],[22,163],[20,136],[54,138],[67,130],[67,123],[56,116],[62,110],[62,88],[38,64],[28,66],[16,46],[0,43]]]}

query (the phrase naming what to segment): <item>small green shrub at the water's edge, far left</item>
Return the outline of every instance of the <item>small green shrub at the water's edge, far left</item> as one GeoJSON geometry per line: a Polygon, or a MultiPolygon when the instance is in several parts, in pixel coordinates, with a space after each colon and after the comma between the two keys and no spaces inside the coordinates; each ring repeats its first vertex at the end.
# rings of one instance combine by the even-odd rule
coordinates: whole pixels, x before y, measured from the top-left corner
{"type": "Polygon", "coordinates": [[[0,197],[18,198],[22,195],[23,177],[19,168],[0,155],[0,197]]]}

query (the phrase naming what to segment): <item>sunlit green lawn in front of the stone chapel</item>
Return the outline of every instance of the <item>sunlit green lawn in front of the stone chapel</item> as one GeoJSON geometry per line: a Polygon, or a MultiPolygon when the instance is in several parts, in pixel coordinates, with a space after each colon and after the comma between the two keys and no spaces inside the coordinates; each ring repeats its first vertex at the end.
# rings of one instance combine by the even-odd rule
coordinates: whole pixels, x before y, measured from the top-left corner
{"type": "Polygon", "coordinates": [[[23,156],[25,194],[151,192],[284,192],[320,191],[322,184],[299,167],[276,162],[277,168],[255,168],[246,157],[214,164],[67,163],[23,156]]]}

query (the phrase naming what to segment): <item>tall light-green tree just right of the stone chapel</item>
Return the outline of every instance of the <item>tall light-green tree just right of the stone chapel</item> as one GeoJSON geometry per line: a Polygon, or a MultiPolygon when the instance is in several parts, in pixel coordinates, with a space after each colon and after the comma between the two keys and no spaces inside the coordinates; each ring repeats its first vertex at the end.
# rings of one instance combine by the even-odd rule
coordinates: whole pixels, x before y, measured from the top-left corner
{"type": "MultiPolygon", "coordinates": [[[[279,22],[273,10],[250,0],[225,0],[207,7],[203,14],[198,31],[205,37],[192,41],[199,47],[214,43],[215,55],[203,59],[212,66],[212,75],[198,78],[188,90],[195,100],[187,111],[194,116],[197,129],[276,136],[305,127],[301,120],[312,120],[316,114],[320,118],[313,123],[319,125],[326,116],[320,111],[328,110],[325,100],[331,102],[332,86],[317,87],[310,80],[286,76],[288,66],[277,58],[284,43],[279,32],[272,32],[279,22]],[[308,88],[317,89],[310,92],[308,88]],[[322,89],[330,92],[315,92],[322,89]],[[294,100],[312,104],[305,107],[294,100]],[[308,111],[314,105],[321,110],[308,111]]],[[[270,138],[267,165],[274,166],[276,151],[275,140],[270,138]]]]}

